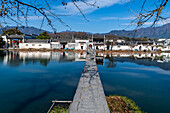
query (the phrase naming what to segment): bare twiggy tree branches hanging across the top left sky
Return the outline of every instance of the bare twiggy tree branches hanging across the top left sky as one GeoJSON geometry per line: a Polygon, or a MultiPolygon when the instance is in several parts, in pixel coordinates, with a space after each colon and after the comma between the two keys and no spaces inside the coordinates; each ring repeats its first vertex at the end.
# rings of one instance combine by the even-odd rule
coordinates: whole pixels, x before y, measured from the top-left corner
{"type": "MultiPolygon", "coordinates": [[[[22,26],[23,22],[22,19],[25,19],[25,23],[27,25],[28,22],[28,16],[31,14],[31,16],[38,16],[42,17],[42,23],[40,28],[43,26],[44,21],[48,22],[48,25],[51,26],[51,28],[56,31],[56,29],[53,26],[53,23],[57,20],[60,23],[62,23],[64,26],[69,27],[64,21],[62,21],[61,16],[67,16],[67,15],[61,15],[57,14],[56,8],[53,6],[55,4],[57,5],[63,5],[63,7],[66,8],[67,3],[69,1],[66,0],[32,0],[32,1],[24,1],[24,0],[1,0],[1,10],[0,10],[0,17],[4,18],[3,23],[7,23],[5,18],[8,18],[12,20],[13,22],[17,23],[17,25],[22,26]],[[17,17],[14,19],[13,17],[17,17]],[[20,19],[22,18],[22,19],[20,19]]],[[[80,13],[83,15],[83,17],[86,19],[84,13],[81,11],[81,8],[77,5],[78,2],[83,2],[86,5],[95,6],[94,4],[87,3],[86,0],[71,0],[71,2],[74,4],[74,6],[80,11],[80,13]]],[[[87,19],[86,19],[87,20],[87,19]]],[[[1,22],[2,24],[2,22],[1,22]]],[[[2,25],[0,25],[2,26],[2,25]]]]}

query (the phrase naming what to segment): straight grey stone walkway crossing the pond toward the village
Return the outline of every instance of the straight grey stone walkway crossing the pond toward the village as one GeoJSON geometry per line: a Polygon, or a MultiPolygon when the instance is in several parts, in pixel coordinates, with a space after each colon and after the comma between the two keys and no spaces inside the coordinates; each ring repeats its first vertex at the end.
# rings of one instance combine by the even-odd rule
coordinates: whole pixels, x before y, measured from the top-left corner
{"type": "Polygon", "coordinates": [[[78,88],[68,113],[110,113],[95,62],[95,51],[87,52],[78,88]]]}

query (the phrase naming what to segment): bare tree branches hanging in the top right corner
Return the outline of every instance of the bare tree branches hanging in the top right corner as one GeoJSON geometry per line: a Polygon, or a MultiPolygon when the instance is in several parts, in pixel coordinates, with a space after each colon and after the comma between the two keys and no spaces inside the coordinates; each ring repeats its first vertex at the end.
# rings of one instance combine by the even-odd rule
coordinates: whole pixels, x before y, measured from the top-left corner
{"type": "MultiPolygon", "coordinates": [[[[131,0],[131,1],[135,1],[135,0],[131,0]]],[[[140,0],[140,1],[142,2],[140,4],[141,7],[136,13],[136,19],[132,21],[132,22],[136,22],[138,28],[142,27],[148,21],[152,21],[151,26],[154,26],[157,22],[169,18],[169,17],[162,16],[163,9],[165,8],[165,6],[167,6],[168,0],[155,0],[153,3],[153,6],[155,7],[153,9],[146,7],[147,3],[151,5],[153,1],[151,0],[140,0]]]]}

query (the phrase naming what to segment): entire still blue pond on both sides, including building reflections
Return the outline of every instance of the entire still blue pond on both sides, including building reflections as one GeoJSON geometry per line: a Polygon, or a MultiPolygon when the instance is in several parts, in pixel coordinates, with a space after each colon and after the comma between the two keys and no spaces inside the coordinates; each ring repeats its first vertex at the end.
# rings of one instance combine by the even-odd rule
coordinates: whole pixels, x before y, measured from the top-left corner
{"type": "MultiPolygon", "coordinates": [[[[46,113],[72,100],[85,53],[0,51],[0,113],[46,113]]],[[[97,54],[106,96],[133,99],[148,113],[170,113],[170,53],[97,54]]]]}

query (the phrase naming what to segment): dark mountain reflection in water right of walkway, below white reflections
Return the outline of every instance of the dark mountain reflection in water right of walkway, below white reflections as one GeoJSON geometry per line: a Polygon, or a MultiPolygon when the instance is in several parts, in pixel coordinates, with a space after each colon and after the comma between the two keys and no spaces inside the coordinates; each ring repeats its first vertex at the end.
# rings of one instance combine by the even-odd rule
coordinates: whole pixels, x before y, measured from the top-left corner
{"type": "Polygon", "coordinates": [[[145,66],[156,66],[164,70],[170,70],[170,62],[159,63],[157,61],[152,61],[151,59],[138,59],[135,60],[134,58],[115,58],[115,62],[131,62],[136,63],[138,65],[145,65],[145,66]]]}

